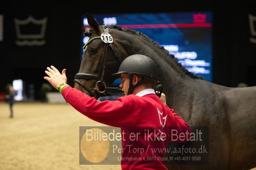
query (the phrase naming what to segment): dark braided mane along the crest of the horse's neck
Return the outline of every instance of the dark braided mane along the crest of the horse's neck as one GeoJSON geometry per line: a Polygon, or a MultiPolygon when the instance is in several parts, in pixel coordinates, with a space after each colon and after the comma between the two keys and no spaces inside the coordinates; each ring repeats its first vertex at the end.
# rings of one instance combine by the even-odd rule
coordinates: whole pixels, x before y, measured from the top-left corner
{"type": "MultiPolygon", "coordinates": [[[[158,49],[162,50],[162,52],[164,52],[164,54],[166,54],[166,56],[169,56],[173,59],[174,63],[182,70],[183,73],[185,73],[185,75],[191,77],[192,79],[203,79],[203,77],[198,76],[198,75],[194,75],[194,73],[189,72],[189,70],[187,70],[185,68],[185,66],[183,66],[182,64],[178,63],[178,59],[175,58],[175,56],[173,54],[169,54],[169,51],[164,49],[164,47],[160,46],[157,42],[155,42],[154,40],[152,40],[151,38],[149,38],[147,35],[144,35],[142,32],[140,31],[135,31],[133,29],[128,29],[127,27],[119,27],[116,25],[112,25],[112,26],[108,26],[109,28],[112,29],[117,29],[119,31],[124,31],[126,33],[130,33],[132,35],[137,35],[137,36],[141,36],[142,38],[144,38],[144,40],[148,41],[149,43],[152,43],[155,47],[157,47],[158,49]]],[[[83,33],[85,36],[89,36],[92,34],[90,29],[85,29],[85,32],[83,33]]]]}

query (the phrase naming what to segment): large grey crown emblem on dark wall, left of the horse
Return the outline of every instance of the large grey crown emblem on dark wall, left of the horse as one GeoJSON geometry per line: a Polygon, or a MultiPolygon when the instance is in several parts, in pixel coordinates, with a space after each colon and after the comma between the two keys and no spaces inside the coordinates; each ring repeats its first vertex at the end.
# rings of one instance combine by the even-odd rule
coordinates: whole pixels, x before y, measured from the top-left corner
{"type": "Polygon", "coordinates": [[[44,36],[46,33],[47,17],[39,20],[34,19],[30,15],[25,20],[14,19],[14,22],[17,35],[16,45],[41,46],[46,43],[44,36]]]}

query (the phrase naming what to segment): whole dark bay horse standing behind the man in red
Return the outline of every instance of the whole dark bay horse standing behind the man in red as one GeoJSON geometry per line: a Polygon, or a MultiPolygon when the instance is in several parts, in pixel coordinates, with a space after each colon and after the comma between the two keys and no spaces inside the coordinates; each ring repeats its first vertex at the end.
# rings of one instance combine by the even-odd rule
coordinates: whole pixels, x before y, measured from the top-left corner
{"type": "Polygon", "coordinates": [[[74,84],[75,88],[97,98],[100,94],[94,90],[96,82],[104,81],[103,85],[99,82],[101,87],[111,84],[114,81],[112,73],[117,72],[124,58],[132,54],[149,56],[160,69],[158,77],[164,87],[167,105],[191,127],[209,127],[208,164],[170,165],[169,168],[256,167],[256,86],[228,88],[207,82],[188,72],[173,55],[148,36],[131,29],[110,27],[113,42],[107,46],[99,38],[105,29],[90,15],[87,19],[90,28],[85,29],[85,36],[90,40],[81,61],[81,74],[76,76],[79,83],[74,84]]]}

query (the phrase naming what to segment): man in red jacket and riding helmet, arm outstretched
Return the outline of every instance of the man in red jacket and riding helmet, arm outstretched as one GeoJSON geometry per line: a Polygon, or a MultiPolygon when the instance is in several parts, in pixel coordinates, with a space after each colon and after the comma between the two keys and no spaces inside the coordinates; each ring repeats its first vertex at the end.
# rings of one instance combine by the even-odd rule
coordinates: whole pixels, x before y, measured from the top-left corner
{"type": "Polygon", "coordinates": [[[85,116],[99,123],[121,127],[122,169],[167,169],[164,149],[170,141],[189,141],[190,128],[155,94],[156,73],[157,66],[151,58],[140,54],[129,56],[114,74],[121,75],[120,88],[124,97],[103,102],[67,85],[65,69],[60,73],[54,66],[47,67],[48,77],[44,79],[85,116]],[[182,137],[177,137],[179,134],[182,137]]]}

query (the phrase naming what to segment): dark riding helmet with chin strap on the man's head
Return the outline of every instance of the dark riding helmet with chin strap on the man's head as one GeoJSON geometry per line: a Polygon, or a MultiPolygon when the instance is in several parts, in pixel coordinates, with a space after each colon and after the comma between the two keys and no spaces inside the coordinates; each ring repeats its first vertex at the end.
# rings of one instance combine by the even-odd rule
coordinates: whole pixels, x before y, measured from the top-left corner
{"type": "Polygon", "coordinates": [[[128,73],[130,77],[128,95],[132,94],[133,90],[141,84],[146,84],[149,82],[154,84],[157,81],[157,65],[155,64],[155,61],[148,56],[141,54],[133,54],[132,56],[128,56],[119,66],[118,72],[113,73],[113,75],[120,75],[121,73],[128,73]],[[142,75],[142,81],[136,85],[133,85],[133,75],[142,75]]]}

